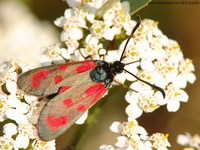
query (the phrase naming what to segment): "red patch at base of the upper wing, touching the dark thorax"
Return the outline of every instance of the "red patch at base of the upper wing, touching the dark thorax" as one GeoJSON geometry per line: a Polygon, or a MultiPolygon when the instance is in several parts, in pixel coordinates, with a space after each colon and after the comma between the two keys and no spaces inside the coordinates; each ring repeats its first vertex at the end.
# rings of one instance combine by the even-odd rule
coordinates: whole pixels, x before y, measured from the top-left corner
{"type": "Polygon", "coordinates": [[[76,72],[82,73],[82,72],[85,72],[85,71],[87,71],[91,68],[95,68],[95,67],[96,67],[96,64],[94,63],[94,61],[85,61],[83,63],[83,65],[76,67],[76,72]]]}

